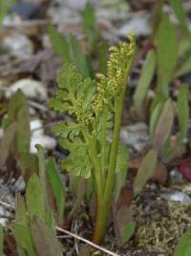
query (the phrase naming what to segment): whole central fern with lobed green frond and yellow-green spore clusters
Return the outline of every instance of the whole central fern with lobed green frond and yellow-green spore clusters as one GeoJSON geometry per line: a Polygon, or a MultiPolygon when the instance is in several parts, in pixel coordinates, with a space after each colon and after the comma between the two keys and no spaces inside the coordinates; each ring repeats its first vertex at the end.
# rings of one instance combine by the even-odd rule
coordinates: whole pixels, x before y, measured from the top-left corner
{"type": "Polygon", "coordinates": [[[96,80],[83,79],[73,64],[65,64],[57,79],[59,90],[50,100],[55,111],[75,117],[74,122],[55,125],[53,132],[70,151],[69,157],[62,160],[62,167],[74,176],[93,177],[95,181],[96,244],[103,241],[106,233],[117,172],[126,168],[123,163],[127,152],[119,143],[119,131],[127,78],[136,50],[134,34],[129,34],[128,39],[128,43],[120,42],[110,48],[107,75],[98,74],[96,80]],[[111,130],[113,137],[109,142],[111,130]]]}

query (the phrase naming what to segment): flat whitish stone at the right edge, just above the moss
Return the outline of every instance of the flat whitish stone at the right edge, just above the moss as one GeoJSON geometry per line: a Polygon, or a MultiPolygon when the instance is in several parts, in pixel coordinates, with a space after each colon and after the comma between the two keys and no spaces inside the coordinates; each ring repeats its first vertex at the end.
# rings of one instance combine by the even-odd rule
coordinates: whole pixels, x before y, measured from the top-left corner
{"type": "Polygon", "coordinates": [[[160,197],[172,202],[191,203],[191,198],[187,194],[177,190],[162,193],[160,197]]]}

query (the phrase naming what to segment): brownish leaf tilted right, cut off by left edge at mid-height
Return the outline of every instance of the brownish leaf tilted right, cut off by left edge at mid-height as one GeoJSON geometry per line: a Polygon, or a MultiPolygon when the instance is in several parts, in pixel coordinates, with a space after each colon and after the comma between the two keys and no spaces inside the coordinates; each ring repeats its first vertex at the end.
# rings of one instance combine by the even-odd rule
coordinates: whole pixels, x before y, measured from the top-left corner
{"type": "Polygon", "coordinates": [[[12,122],[6,129],[3,138],[0,141],[0,167],[2,167],[9,157],[11,151],[11,143],[16,132],[16,122],[12,122]]]}

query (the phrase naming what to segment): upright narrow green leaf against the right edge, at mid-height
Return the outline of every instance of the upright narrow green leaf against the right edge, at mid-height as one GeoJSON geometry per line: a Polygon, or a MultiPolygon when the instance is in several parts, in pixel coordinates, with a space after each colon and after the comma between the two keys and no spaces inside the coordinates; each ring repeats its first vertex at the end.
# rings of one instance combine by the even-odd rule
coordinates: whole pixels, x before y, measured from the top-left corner
{"type": "Polygon", "coordinates": [[[180,88],[178,96],[178,117],[180,125],[180,139],[186,137],[187,125],[189,121],[188,85],[184,84],[180,88]]]}

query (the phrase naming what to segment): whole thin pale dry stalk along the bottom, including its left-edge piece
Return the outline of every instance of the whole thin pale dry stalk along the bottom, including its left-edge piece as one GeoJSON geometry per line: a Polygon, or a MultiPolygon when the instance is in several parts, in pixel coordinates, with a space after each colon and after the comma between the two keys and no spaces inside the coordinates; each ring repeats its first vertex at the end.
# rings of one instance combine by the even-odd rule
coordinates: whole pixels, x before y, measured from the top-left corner
{"type": "MultiPolygon", "coordinates": [[[[15,210],[14,205],[11,205],[10,203],[5,203],[5,202],[3,202],[3,201],[0,200],[0,204],[3,205],[3,206],[5,206],[5,207],[9,207],[9,208],[11,208],[12,210],[15,210]]],[[[80,236],[78,236],[78,235],[75,235],[74,233],[72,233],[72,232],[70,232],[70,231],[68,231],[68,230],[66,230],[66,229],[63,229],[63,228],[61,228],[61,227],[59,227],[59,226],[55,226],[55,229],[56,229],[57,231],[60,231],[60,232],[62,232],[62,233],[65,233],[65,234],[67,234],[67,235],[69,235],[69,236],[71,236],[71,237],[74,237],[75,239],[78,239],[79,241],[82,241],[82,242],[84,242],[84,243],[86,243],[86,244],[88,244],[88,245],[91,245],[91,246],[95,247],[96,249],[99,249],[99,250],[101,250],[101,251],[103,251],[103,252],[105,252],[105,253],[107,253],[107,254],[109,254],[109,255],[112,255],[112,256],[120,256],[119,254],[117,254],[117,253],[115,253],[115,252],[112,252],[112,251],[110,251],[110,250],[108,250],[108,249],[106,249],[106,248],[104,248],[104,247],[102,247],[102,246],[96,245],[96,244],[92,243],[91,241],[89,241],[89,240],[87,240],[87,239],[85,239],[85,238],[82,238],[82,237],[80,237],[80,236]]]]}

